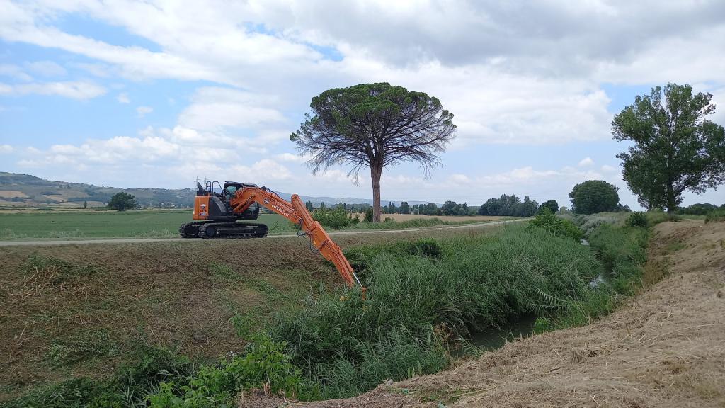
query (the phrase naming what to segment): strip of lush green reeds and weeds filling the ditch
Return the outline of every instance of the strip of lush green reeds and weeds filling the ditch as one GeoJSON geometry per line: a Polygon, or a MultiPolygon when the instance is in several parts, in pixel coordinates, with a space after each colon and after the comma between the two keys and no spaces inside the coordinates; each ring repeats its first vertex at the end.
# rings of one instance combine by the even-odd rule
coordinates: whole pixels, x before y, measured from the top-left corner
{"type": "MultiPolygon", "coordinates": [[[[355,290],[320,290],[305,307],[278,313],[270,330],[249,338],[246,353],[218,364],[191,367],[157,352],[150,355],[161,356],[158,364],[170,364],[173,375],[138,380],[121,370],[107,382],[61,383],[8,406],[33,401],[52,406],[58,395],[78,404],[133,406],[149,393],[157,407],[203,407],[231,401],[249,388],[331,398],[367,391],[387,378],[436,372],[462,346],[473,349],[463,340],[472,332],[532,313],[539,316],[537,330],[585,324],[636,290],[646,229],[602,223],[588,236],[591,249],[542,228],[512,226],[494,236],[348,250],[368,286],[366,301],[355,290]],[[590,282],[600,275],[605,280],[593,287],[590,282]],[[72,397],[80,386],[90,387],[83,388],[83,401],[72,397]]],[[[142,364],[157,364],[148,355],[142,364]]]]}

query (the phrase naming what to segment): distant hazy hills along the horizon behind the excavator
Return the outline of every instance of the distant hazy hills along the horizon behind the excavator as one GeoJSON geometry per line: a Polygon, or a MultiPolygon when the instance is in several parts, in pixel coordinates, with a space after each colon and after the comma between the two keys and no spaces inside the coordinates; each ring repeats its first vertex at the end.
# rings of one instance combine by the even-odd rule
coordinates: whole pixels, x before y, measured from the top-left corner
{"type": "MultiPolygon", "coordinates": [[[[69,183],[67,181],[51,181],[31,176],[30,174],[15,174],[0,172],[0,205],[1,206],[62,206],[78,207],[83,202],[88,207],[106,205],[112,195],[117,192],[128,192],[136,196],[136,202],[150,207],[178,208],[194,205],[195,189],[122,189],[118,187],[99,187],[94,184],[69,183]]],[[[277,192],[285,200],[291,195],[286,192],[277,192]]],[[[372,204],[372,199],[355,197],[313,197],[300,195],[303,201],[311,201],[313,205],[320,203],[326,205],[336,203],[372,204]]],[[[388,200],[382,200],[387,204],[388,200]]],[[[400,205],[399,201],[393,201],[400,205]]],[[[424,203],[422,201],[408,201],[410,205],[424,203]]]]}

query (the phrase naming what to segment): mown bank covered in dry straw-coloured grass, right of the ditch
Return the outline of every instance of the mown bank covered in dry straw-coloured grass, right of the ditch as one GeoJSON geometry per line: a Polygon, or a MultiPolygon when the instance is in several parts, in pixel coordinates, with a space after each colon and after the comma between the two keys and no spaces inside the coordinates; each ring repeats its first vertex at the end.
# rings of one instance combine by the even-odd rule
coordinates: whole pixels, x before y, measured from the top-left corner
{"type": "Polygon", "coordinates": [[[646,279],[664,280],[600,322],[356,399],[300,406],[725,407],[725,224],[659,224],[650,248],[646,279]]]}

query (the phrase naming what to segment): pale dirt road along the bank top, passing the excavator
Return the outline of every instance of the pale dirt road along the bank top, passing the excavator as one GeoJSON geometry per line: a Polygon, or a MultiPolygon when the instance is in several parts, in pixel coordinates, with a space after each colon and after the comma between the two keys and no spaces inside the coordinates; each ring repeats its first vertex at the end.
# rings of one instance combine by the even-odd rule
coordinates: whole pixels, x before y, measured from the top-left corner
{"type": "MultiPolygon", "coordinates": [[[[330,235],[359,235],[359,234],[392,234],[399,232],[421,232],[436,231],[441,229],[477,229],[495,225],[508,224],[510,222],[526,221],[526,219],[515,219],[506,221],[479,222],[463,225],[443,225],[441,227],[408,228],[408,229],[353,229],[349,231],[333,231],[330,235]]],[[[268,235],[268,238],[289,238],[297,237],[296,234],[268,235]]],[[[141,242],[194,242],[188,238],[107,238],[99,240],[28,240],[28,241],[0,241],[0,247],[18,246],[49,246],[49,245],[83,245],[83,244],[133,244],[141,242]]]]}

